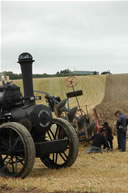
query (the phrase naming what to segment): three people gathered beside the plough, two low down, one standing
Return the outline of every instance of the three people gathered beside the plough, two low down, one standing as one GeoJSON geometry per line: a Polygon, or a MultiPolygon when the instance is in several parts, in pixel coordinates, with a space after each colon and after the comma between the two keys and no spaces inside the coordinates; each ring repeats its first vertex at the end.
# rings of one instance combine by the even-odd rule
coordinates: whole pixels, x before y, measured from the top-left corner
{"type": "MultiPolygon", "coordinates": [[[[117,117],[117,149],[119,149],[120,152],[125,152],[128,118],[119,110],[115,112],[115,116],[117,117]]],[[[102,152],[102,146],[103,149],[113,150],[112,129],[108,122],[104,122],[100,131],[92,136],[88,141],[90,140],[93,142],[92,145],[88,148],[87,153],[102,152]]]]}

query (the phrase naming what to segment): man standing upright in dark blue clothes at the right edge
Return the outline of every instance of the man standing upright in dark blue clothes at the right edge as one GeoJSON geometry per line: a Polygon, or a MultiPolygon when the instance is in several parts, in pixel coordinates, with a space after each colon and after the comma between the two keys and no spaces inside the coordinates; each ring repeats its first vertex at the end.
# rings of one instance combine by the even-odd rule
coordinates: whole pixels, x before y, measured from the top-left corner
{"type": "Polygon", "coordinates": [[[116,111],[115,116],[117,117],[117,141],[118,149],[121,152],[126,151],[126,133],[127,133],[127,117],[121,113],[121,111],[116,111]]]}

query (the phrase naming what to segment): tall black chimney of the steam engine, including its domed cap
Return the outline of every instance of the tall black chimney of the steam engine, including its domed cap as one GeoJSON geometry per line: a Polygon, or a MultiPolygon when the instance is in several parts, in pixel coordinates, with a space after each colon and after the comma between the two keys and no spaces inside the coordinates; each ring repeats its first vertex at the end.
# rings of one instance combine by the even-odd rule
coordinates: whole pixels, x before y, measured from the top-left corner
{"type": "MultiPolygon", "coordinates": [[[[32,63],[34,62],[31,54],[25,52],[19,55],[18,63],[21,67],[24,97],[27,98],[26,103],[30,103],[30,98],[34,96],[32,81],[32,63]]],[[[31,101],[32,103],[32,101],[31,101]]]]}

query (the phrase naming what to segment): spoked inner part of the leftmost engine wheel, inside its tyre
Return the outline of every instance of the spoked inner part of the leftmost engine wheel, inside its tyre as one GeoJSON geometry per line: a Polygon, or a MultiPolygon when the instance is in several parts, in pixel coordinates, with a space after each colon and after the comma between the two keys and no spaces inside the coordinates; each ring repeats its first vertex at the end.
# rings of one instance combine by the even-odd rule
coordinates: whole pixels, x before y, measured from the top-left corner
{"type": "Polygon", "coordinates": [[[6,176],[20,176],[26,165],[26,148],[24,140],[14,128],[0,130],[0,173],[6,176]],[[6,142],[6,143],[5,143],[6,142]]]}

